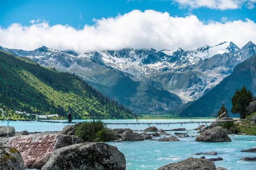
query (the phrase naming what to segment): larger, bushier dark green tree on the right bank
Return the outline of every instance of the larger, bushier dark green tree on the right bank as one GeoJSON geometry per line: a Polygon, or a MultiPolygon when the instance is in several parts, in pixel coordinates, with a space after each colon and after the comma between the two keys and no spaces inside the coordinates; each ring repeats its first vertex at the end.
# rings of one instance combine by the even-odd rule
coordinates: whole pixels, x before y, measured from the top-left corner
{"type": "Polygon", "coordinates": [[[246,106],[255,98],[252,96],[250,90],[246,90],[245,86],[239,91],[238,89],[235,92],[235,95],[232,97],[232,113],[240,113],[240,117],[244,119],[246,117],[246,106]]]}

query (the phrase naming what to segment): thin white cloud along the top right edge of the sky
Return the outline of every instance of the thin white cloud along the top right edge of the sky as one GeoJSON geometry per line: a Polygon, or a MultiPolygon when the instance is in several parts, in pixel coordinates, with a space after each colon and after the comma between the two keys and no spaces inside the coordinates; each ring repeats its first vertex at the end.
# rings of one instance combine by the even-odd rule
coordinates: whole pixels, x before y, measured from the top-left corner
{"type": "Polygon", "coordinates": [[[173,0],[182,8],[200,8],[228,10],[238,9],[245,5],[248,9],[254,8],[256,0],[173,0]]]}

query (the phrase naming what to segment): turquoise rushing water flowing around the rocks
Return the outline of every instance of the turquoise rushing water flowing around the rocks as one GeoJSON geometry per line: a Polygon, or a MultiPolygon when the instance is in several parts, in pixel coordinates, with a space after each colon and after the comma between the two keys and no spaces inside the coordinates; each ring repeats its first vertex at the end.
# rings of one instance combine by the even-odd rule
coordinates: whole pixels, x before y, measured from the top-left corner
{"type": "MultiPolygon", "coordinates": [[[[102,120],[106,123],[134,123],[136,120],[102,120]]],[[[154,120],[139,120],[140,123],[153,123],[153,122],[176,122],[176,121],[190,121],[190,119],[154,119],[154,120]]],[[[197,119],[200,121],[200,119],[197,119]]],[[[1,122],[1,126],[6,126],[7,122],[1,122]]],[[[22,122],[10,121],[10,126],[15,127],[16,131],[60,131],[67,124],[63,123],[41,123],[41,122],[22,122]]],[[[186,128],[190,136],[199,135],[192,129],[198,127],[198,124],[176,124],[176,125],[154,125],[158,129],[174,129],[186,128]]],[[[148,125],[108,125],[109,128],[130,128],[132,130],[142,130],[148,125]]],[[[166,131],[167,133],[174,134],[175,131],[166,131]]],[[[178,131],[177,131],[178,132],[178,131]]],[[[180,131],[184,133],[184,131],[180,131]]],[[[138,132],[141,133],[141,132],[138,132]]],[[[155,137],[155,139],[162,138],[155,137]]],[[[256,147],[256,136],[242,136],[230,135],[232,142],[227,143],[206,143],[196,142],[195,137],[180,138],[180,141],[175,142],[158,142],[158,141],[137,141],[137,142],[122,142],[114,143],[108,142],[110,145],[118,147],[118,149],[125,155],[126,169],[127,170],[154,170],[160,166],[179,162],[188,157],[201,157],[216,158],[222,157],[223,160],[214,162],[216,166],[222,166],[230,170],[255,170],[256,162],[240,161],[239,159],[244,156],[254,156],[256,153],[240,152],[242,149],[249,149],[256,147]],[[196,152],[210,152],[216,151],[219,155],[195,155],[196,152]]]]}

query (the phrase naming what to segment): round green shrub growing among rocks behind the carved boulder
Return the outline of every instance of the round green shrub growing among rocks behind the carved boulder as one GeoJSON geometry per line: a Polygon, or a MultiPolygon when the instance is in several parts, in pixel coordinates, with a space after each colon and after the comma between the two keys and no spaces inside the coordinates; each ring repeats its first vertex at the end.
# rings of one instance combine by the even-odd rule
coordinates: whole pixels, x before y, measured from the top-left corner
{"type": "Polygon", "coordinates": [[[77,125],[75,135],[85,142],[105,142],[114,139],[114,134],[102,121],[86,121],[77,125]]]}

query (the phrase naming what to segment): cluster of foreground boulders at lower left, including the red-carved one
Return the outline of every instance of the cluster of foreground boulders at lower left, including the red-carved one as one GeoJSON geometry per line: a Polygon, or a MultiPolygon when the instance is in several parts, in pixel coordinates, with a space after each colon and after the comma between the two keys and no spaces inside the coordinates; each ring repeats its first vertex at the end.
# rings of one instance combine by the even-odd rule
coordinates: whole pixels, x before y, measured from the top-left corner
{"type": "Polygon", "coordinates": [[[86,142],[74,135],[74,126],[60,132],[15,133],[13,127],[0,127],[1,170],[67,170],[120,169],[125,170],[124,154],[106,143],[86,142]],[[12,132],[12,133],[10,133],[12,132]],[[10,134],[12,137],[10,137],[10,134]],[[69,135],[66,135],[69,134],[69,135]]]}

